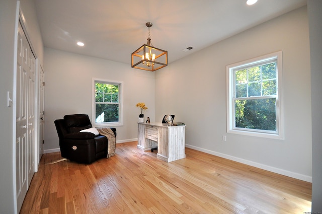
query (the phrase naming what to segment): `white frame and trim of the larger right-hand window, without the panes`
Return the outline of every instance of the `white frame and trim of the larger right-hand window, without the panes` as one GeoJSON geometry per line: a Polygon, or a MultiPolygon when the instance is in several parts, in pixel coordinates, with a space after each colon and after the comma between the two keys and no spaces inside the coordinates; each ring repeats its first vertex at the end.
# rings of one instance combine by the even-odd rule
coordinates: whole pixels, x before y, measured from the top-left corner
{"type": "MultiPolygon", "coordinates": [[[[266,54],[264,56],[259,56],[256,58],[248,59],[245,61],[233,63],[226,66],[226,92],[227,92],[227,100],[226,100],[226,113],[227,113],[227,133],[233,134],[242,134],[249,136],[258,136],[258,137],[267,137],[274,139],[283,139],[283,105],[282,105],[282,51],[277,51],[274,53],[266,54]],[[236,128],[235,127],[235,108],[234,108],[234,90],[235,90],[235,81],[234,81],[234,72],[236,68],[245,68],[245,67],[253,67],[256,64],[263,63],[269,60],[277,60],[277,95],[276,95],[276,131],[268,131],[268,130],[257,130],[257,129],[246,129],[246,128],[236,128]]],[[[252,97],[249,97],[252,99],[252,97]]]]}

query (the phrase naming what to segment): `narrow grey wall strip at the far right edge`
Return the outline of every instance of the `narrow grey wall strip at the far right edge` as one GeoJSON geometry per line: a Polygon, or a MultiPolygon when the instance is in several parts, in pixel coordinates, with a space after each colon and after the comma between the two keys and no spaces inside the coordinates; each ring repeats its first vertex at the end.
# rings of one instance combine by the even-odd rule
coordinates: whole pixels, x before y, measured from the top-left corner
{"type": "Polygon", "coordinates": [[[312,213],[322,211],[322,1],[307,1],[312,91],[312,213]]]}

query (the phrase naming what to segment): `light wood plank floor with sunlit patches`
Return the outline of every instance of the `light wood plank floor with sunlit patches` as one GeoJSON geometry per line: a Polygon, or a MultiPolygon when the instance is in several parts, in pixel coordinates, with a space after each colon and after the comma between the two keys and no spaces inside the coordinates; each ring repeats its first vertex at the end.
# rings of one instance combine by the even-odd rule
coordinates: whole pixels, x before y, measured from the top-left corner
{"type": "Polygon", "coordinates": [[[186,148],[166,163],[117,144],[89,165],[43,155],[20,213],[303,213],[311,184],[186,148]]]}

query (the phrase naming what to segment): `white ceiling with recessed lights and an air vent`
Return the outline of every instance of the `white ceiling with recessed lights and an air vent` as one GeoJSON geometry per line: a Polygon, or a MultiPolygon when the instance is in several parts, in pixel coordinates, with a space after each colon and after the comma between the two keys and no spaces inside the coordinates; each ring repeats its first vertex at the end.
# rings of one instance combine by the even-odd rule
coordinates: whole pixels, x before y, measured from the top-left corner
{"type": "Polygon", "coordinates": [[[306,5],[306,0],[35,0],[44,46],[131,64],[146,44],[171,63],[306,5]],[[85,43],[84,47],[76,45],[85,43]],[[183,49],[194,47],[188,52],[183,49]]]}

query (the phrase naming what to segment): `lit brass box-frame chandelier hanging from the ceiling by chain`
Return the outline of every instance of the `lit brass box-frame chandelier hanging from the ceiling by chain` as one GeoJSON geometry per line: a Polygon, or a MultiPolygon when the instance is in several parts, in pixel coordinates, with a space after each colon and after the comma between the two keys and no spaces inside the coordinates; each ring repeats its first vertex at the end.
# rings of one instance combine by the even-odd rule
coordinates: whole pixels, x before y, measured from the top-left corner
{"type": "Polygon", "coordinates": [[[168,65],[168,51],[153,47],[150,38],[150,27],[152,27],[152,23],[147,22],[145,25],[149,29],[147,43],[132,53],[131,66],[154,72],[154,70],[168,65]]]}

